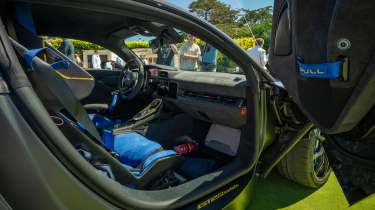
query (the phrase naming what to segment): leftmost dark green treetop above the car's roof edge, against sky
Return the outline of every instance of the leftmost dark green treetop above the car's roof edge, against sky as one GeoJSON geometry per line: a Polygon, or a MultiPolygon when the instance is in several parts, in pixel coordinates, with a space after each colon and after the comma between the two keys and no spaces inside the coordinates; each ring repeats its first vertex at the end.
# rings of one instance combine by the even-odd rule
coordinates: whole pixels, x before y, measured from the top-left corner
{"type": "Polygon", "coordinates": [[[239,12],[218,0],[194,1],[189,5],[189,10],[214,25],[236,24],[239,12]]]}

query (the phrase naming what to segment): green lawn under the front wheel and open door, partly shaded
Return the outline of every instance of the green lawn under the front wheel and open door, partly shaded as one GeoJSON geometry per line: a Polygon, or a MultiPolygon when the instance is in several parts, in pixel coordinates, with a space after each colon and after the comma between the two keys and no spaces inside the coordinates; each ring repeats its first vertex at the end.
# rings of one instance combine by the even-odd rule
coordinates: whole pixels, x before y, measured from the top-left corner
{"type": "Polygon", "coordinates": [[[255,183],[251,204],[247,210],[375,210],[375,196],[350,206],[336,177],[320,189],[308,189],[272,173],[255,183]]]}

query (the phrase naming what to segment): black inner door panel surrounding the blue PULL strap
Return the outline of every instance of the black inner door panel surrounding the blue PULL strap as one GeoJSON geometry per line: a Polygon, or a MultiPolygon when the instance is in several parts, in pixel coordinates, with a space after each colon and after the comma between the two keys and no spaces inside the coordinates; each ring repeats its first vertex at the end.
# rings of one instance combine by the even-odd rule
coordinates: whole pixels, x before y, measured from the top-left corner
{"type": "Polygon", "coordinates": [[[375,92],[375,42],[371,38],[375,35],[374,8],[369,0],[360,5],[354,0],[275,1],[271,70],[305,114],[327,133],[352,129],[374,105],[374,100],[368,98],[375,92]],[[292,41],[281,34],[286,32],[292,41]],[[285,50],[284,43],[288,42],[291,53],[285,50]],[[322,64],[338,60],[343,60],[342,70],[345,65],[348,69],[340,78],[299,76],[297,62],[322,64]]]}

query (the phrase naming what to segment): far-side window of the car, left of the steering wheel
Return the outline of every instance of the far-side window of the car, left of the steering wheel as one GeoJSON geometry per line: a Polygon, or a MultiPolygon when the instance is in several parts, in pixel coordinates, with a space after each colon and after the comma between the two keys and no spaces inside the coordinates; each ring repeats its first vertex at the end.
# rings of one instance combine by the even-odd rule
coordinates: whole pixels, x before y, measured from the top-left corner
{"type": "Polygon", "coordinates": [[[90,42],[66,38],[52,38],[46,42],[84,69],[121,70],[125,66],[123,59],[115,53],[90,42]]]}

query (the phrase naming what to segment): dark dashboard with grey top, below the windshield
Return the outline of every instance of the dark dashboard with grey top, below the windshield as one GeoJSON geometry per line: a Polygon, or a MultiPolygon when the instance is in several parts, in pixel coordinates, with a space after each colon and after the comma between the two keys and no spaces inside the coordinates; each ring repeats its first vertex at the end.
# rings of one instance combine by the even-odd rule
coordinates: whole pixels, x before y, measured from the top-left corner
{"type": "Polygon", "coordinates": [[[244,75],[177,71],[148,66],[148,82],[165,101],[192,117],[209,123],[241,128],[246,123],[247,83],[244,75]]]}

